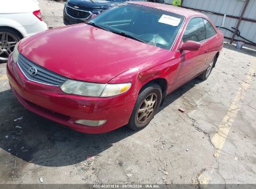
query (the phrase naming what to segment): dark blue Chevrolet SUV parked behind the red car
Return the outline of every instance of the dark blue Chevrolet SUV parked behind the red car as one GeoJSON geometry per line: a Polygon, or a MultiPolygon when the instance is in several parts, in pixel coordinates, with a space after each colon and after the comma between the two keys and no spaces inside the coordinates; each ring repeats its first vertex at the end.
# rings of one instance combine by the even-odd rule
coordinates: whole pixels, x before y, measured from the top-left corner
{"type": "MultiPolygon", "coordinates": [[[[125,1],[127,0],[67,0],[63,10],[64,24],[70,25],[86,22],[88,19],[90,19],[92,14],[100,14],[100,12],[125,1]]],[[[135,1],[164,3],[164,0],[135,1]]]]}

